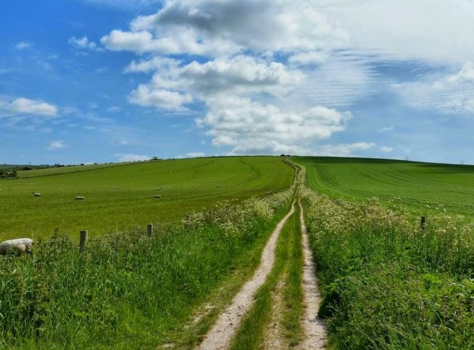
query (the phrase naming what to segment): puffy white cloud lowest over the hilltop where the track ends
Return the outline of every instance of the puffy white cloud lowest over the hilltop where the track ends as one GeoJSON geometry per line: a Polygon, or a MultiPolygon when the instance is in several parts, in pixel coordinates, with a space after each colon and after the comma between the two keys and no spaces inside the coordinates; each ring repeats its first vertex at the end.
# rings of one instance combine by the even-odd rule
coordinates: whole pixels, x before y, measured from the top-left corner
{"type": "Polygon", "coordinates": [[[196,122],[208,128],[215,146],[232,147],[231,154],[308,153],[311,142],[342,131],[352,117],[321,106],[296,113],[237,97],[208,104],[210,111],[196,122]]]}

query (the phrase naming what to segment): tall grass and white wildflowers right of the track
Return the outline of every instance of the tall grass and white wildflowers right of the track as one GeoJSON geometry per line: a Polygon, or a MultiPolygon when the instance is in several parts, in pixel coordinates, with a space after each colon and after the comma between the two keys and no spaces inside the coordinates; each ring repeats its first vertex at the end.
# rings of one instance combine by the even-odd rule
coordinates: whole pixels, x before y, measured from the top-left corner
{"type": "Polygon", "coordinates": [[[419,218],[372,198],[303,191],[336,349],[472,349],[474,238],[467,221],[419,218]]]}

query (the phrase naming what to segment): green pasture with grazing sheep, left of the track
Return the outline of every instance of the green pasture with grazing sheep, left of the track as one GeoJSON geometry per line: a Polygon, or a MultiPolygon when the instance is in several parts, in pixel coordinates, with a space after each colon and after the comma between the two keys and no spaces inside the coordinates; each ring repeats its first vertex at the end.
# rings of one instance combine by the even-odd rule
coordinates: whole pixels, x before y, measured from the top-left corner
{"type": "Polygon", "coordinates": [[[225,199],[263,196],[291,185],[280,157],[225,157],[97,164],[19,171],[0,181],[0,240],[121,232],[179,221],[225,199]],[[159,189],[159,190],[157,190],[159,189]],[[33,191],[41,193],[34,197],[33,191]],[[160,199],[153,198],[161,195],[160,199]],[[85,201],[75,201],[75,196],[85,201]]]}

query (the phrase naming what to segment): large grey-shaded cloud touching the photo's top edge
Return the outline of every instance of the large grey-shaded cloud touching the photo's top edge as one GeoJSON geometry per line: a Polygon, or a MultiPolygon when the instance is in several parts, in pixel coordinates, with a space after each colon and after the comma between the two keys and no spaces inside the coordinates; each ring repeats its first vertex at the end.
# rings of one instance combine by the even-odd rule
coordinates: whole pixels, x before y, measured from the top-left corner
{"type": "Polygon", "coordinates": [[[156,14],[131,21],[130,31],[111,31],[101,42],[116,51],[215,56],[246,49],[313,51],[347,40],[336,21],[304,0],[167,0],[156,14]]]}

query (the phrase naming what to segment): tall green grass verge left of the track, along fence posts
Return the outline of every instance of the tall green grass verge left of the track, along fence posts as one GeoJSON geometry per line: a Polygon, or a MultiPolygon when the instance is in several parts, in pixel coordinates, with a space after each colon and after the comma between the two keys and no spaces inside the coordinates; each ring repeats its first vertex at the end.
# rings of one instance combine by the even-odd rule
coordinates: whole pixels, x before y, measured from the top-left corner
{"type": "MultiPolygon", "coordinates": [[[[142,230],[90,240],[67,235],[33,256],[0,260],[0,346],[34,349],[154,348],[179,341],[190,314],[263,247],[292,189],[222,203],[155,238],[142,230]]],[[[257,255],[256,255],[257,256],[257,255]]]]}

